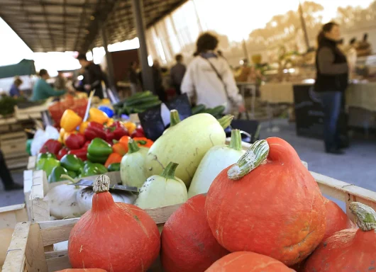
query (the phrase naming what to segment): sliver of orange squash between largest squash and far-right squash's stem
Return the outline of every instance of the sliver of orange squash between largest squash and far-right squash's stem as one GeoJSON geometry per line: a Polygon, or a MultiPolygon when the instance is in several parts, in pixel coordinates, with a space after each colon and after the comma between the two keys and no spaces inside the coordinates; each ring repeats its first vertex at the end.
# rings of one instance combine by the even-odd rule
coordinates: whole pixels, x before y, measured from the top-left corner
{"type": "Polygon", "coordinates": [[[348,218],[343,210],[333,201],[324,198],[326,208],[326,231],[323,240],[331,237],[342,229],[353,229],[354,223],[348,218]]]}

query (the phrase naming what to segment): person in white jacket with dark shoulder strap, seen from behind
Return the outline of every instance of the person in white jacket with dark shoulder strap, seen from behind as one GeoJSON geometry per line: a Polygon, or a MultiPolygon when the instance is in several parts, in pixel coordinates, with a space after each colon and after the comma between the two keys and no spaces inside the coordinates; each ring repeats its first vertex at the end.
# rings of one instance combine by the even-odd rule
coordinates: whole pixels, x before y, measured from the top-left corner
{"type": "Polygon", "coordinates": [[[182,94],[206,108],[226,106],[226,113],[245,111],[243,97],[239,94],[233,73],[226,60],[218,57],[214,50],[218,45],[216,36],[203,33],[199,36],[197,51],[182,80],[182,94]]]}

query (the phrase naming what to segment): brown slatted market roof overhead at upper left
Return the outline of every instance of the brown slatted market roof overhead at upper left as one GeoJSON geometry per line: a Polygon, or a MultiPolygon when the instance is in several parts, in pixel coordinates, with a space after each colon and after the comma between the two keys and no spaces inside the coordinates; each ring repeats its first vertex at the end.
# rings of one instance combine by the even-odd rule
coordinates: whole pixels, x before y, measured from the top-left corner
{"type": "MultiPolygon", "coordinates": [[[[187,0],[143,0],[148,28],[187,0]]],[[[131,0],[0,0],[0,16],[34,52],[80,51],[136,37],[131,0]]]]}

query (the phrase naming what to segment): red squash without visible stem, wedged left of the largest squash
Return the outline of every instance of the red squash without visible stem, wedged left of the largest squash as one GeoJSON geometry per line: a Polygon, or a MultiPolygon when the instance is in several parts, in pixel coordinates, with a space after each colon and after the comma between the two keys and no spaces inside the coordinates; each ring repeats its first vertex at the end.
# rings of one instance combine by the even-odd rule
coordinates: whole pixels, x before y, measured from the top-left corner
{"type": "Polygon", "coordinates": [[[228,254],[211,233],[205,200],[204,195],[189,198],[165,223],[160,257],[166,272],[204,272],[228,254]]]}

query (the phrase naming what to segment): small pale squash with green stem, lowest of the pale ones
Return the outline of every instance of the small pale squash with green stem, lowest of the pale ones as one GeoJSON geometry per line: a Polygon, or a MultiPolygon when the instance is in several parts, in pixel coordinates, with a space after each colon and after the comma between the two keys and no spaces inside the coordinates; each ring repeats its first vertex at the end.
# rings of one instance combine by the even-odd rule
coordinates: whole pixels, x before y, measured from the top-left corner
{"type": "Polygon", "coordinates": [[[153,175],[143,183],[135,205],[142,208],[160,208],[184,203],[188,199],[187,188],[175,176],[178,164],[170,162],[160,175],[153,175]]]}

